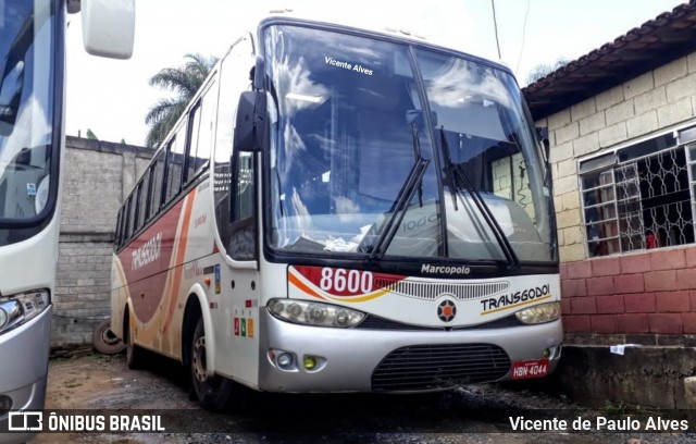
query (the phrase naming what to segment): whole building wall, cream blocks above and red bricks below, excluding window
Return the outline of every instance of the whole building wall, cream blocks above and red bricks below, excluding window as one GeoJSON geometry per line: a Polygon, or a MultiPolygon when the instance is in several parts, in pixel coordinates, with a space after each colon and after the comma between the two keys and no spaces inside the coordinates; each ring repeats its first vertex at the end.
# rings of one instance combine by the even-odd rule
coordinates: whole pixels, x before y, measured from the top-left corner
{"type": "Polygon", "coordinates": [[[568,333],[696,333],[696,245],[588,259],[577,160],[696,123],[696,53],[545,119],[568,333]]]}

